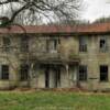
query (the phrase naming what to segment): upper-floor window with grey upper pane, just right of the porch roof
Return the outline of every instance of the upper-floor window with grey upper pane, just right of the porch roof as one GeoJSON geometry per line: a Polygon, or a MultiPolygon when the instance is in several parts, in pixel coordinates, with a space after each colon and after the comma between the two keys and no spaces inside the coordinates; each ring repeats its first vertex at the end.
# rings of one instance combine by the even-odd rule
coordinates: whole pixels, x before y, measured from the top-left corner
{"type": "Polygon", "coordinates": [[[79,52],[87,52],[87,37],[79,37],[79,52]]]}

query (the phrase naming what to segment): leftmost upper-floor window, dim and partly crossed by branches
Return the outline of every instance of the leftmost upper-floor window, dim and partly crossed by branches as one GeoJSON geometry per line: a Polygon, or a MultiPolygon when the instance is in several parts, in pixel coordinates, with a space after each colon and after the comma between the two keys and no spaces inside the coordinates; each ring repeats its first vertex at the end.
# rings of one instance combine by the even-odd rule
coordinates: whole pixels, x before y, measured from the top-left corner
{"type": "Polygon", "coordinates": [[[2,43],[3,43],[3,51],[9,52],[11,45],[10,37],[2,37],[2,43]]]}

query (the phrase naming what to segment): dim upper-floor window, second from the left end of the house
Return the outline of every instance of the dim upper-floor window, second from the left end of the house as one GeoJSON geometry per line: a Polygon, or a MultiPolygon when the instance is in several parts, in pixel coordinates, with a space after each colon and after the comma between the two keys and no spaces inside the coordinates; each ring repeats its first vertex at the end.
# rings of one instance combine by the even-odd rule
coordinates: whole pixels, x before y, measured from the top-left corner
{"type": "Polygon", "coordinates": [[[21,36],[21,52],[29,52],[29,36],[21,36]]]}

